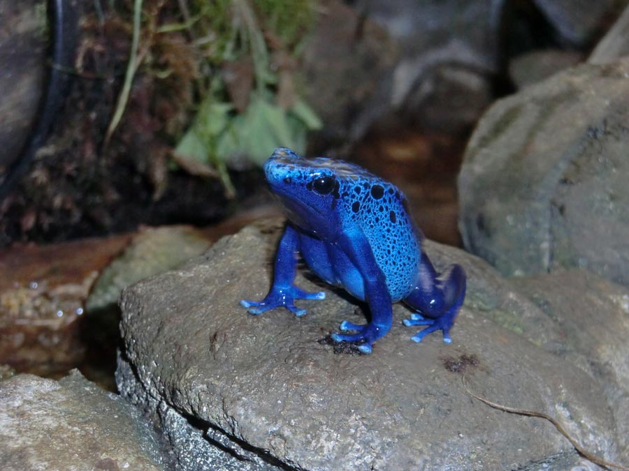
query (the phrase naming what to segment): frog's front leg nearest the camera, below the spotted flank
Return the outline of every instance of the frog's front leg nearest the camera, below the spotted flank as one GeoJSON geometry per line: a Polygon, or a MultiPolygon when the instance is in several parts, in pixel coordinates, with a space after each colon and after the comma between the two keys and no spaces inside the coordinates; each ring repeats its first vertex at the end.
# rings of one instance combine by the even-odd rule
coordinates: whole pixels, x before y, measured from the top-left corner
{"type": "Polygon", "coordinates": [[[332,334],[332,339],[335,342],[361,343],[359,350],[371,353],[371,345],[391,329],[393,321],[391,294],[386,286],[384,273],[378,267],[371,246],[361,230],[346,230],[345,234],[340,236],[338,245],[363,278],[365,301],[369,304],[371,322],[359,325],[345,320],[341,322],[340,329],[357,331],[356,334],[332,334]]]}

